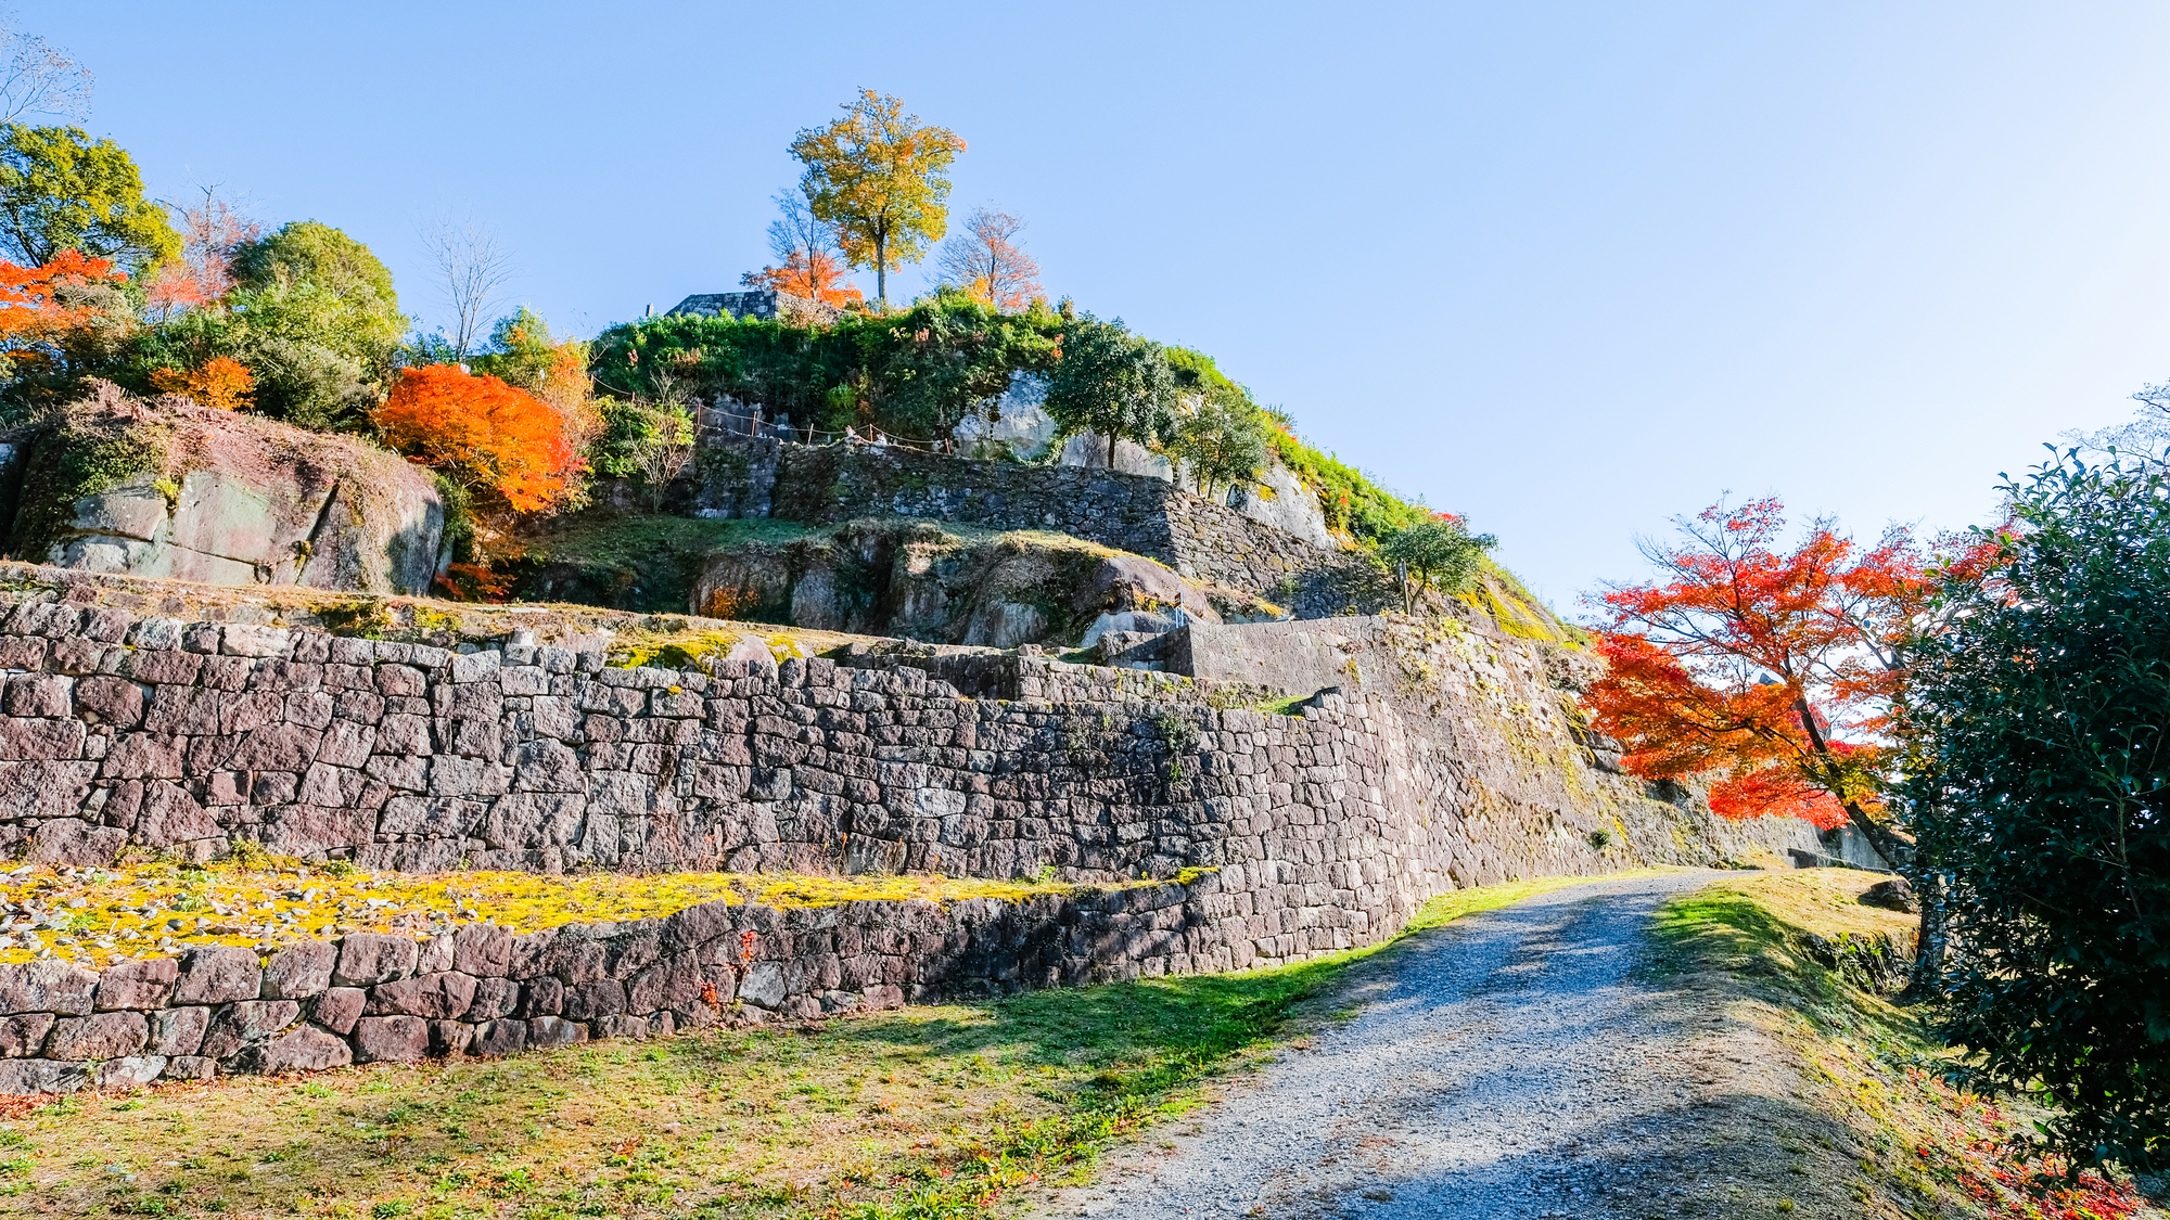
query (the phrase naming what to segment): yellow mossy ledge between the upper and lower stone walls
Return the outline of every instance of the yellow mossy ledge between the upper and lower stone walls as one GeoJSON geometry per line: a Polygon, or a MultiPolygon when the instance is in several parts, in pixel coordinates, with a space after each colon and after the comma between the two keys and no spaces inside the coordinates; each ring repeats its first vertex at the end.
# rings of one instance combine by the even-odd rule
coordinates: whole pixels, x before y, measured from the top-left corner
{"type": "Polygon", "coordinates": [[[278,944],[349,931],[425,936],[462,923],[540,931],[569,923],[666,916],[710,901],[812,907],[866,899],[1026,899],[1059,881],[968,877],[812,877],[662,873],[538,877],[534,873],[360,873],[293,860],[182,868],[43,868],[0,873],[0,962],[65,957],[102,968],[169,957],[191,944],[278,944]]]}

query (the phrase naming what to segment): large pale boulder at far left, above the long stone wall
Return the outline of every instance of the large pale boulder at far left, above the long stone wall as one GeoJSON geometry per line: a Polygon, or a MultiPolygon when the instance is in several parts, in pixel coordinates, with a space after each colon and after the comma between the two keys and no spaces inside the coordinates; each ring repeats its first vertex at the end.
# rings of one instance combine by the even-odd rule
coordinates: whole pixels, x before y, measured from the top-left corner
{"type": "Polygon", "coordinates": [[[0,521],[17,558],[349,593],[427,593],[436,575],[436,482],[349,436],[100,382],[0,449],[0,521]]]}

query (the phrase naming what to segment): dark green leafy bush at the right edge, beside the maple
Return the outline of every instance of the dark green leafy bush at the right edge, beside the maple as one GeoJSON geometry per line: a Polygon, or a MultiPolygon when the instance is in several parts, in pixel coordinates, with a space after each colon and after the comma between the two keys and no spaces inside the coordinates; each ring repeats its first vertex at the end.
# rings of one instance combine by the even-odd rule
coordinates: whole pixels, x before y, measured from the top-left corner
{"type": "Polygon", "coordinates": [[[1944,1033],[2046,1094],[2077,1161],[2170,1161],[2170,488],[2066,454],[1953,580],[1905,701],[1907,808],[1949,879],[1944,1033]]]}

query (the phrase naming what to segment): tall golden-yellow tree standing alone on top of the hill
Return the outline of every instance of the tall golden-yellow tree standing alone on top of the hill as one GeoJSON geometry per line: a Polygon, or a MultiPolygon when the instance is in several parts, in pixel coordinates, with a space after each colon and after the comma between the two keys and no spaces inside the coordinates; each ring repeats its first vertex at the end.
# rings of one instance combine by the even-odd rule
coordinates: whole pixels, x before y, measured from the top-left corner
{"type": "Polygon", "coordinates": [[[859,89],[844,117],[792,141],[805,163],[801,189],[814,215],[835,226],[855,267],[875,269],[875,300],[890,308],[890,271],[916,263],[948,230],[948,167],[963,141],[905,113],[905,102],[859,89]]]}

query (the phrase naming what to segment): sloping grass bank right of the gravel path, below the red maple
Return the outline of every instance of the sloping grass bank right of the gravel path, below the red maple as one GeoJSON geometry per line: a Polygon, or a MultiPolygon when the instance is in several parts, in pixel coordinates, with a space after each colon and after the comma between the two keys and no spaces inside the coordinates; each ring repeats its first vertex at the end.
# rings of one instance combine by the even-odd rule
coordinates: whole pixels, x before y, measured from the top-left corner
{"type": "MultiPolygon", "coordinates": [[[[1910,946],[1914,916],[1864,907],[1855,897],[1877,875],[1840,868],[1723,879],[1671,901],[1660,940],[1664,973],[1721,975],[1721,1012],[1771,1038],[1799,1064],[1799,1101],[1821,1118],[1758,1135],[1795,1172],[1821,1185],[1844,1179],[1858,1216],[2111,1220],[2161,1216],[2129,1183],[2085,1174],[2062,1181],[2057,1161],[2016,1155],[2009,1142],[2031,1114],[1955,1090],[1953,1062],[1920,1016],[1862,986],[1862,973],[1831,946],[1910,946]],[[1823,938],[1818,953],[1812,938],[1823,938]],[[1834,968],[1834,962],[1838,968],[1834,968]],[[1851,1166],[1849,1166],[1851,1161],[1851,1166]]],[[[1758,1148],[1743,1148],[1756,1155],[1758,1148]]],[[[1749,1172],[1743,1181],[1753,1183],[1749,1172]]],[[[1808,1181],[1808,1179],[1797,1179],[1808,1181]]],[[[1740,1213],[1792,1211],[1784,1198],[1740,1198],[1740,1213]]]]}

